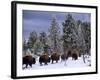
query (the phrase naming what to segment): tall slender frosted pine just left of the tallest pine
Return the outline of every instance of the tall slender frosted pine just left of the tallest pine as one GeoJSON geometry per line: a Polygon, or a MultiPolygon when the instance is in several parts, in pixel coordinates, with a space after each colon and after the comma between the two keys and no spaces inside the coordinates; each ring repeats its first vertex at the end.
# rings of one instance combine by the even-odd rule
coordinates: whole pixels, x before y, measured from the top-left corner
{"type": "Polygon", "coordinates": [[[55,17],[52,18],[49,32],[50,32],[49,36],[52,42],[51,47],[54,52],[59,52],[60,50],[60,27],[55,17]]]}

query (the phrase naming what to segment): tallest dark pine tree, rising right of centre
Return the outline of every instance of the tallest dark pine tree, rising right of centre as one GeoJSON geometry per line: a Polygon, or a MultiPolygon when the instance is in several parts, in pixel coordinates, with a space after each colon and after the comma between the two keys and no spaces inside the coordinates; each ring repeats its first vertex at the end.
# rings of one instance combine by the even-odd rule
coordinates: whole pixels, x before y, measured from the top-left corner
{"type": "Polygon", "coordinates": [[[66,16],[63,25],[63,46],[66,48],[76,48],[77,47],[77,29],[76,22],[71,14],[66,16]]]}

